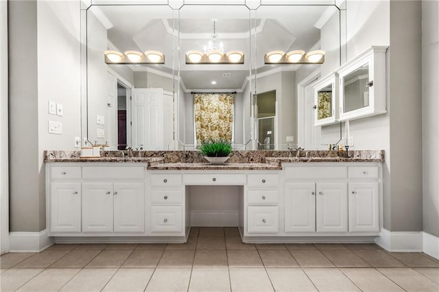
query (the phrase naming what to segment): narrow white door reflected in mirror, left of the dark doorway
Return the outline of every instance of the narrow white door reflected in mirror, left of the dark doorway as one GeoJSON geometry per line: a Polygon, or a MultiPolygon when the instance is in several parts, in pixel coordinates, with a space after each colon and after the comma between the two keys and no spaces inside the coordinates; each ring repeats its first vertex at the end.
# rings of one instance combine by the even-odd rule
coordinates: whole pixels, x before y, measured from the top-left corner
{"type": "Polygon", "coordinates": [[[105,142],[108,142],[108,145],[115,146],[115,149],[117,149],[117,77],[109,72],[107,73],[106,107],[107,114],[106,119],[104,119],[106,135],[105,142]]]}

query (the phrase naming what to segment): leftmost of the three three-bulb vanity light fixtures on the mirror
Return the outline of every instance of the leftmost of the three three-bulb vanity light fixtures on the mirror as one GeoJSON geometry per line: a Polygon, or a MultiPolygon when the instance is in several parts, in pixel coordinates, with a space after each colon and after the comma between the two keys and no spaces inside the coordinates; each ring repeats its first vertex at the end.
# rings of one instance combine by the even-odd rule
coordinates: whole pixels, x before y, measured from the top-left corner
{"type": "Polygon", "coordinates": [[[106,64],[165,64],[165,55],[161,51],[105,51],[106,64]]]}

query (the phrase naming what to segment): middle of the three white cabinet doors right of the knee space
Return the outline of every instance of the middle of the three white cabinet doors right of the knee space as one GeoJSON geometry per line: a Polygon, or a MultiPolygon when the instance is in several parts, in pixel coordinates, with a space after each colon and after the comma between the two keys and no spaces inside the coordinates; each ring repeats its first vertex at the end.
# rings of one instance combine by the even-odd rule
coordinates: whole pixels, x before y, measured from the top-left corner
{"type": "Polygon", "coordinates": [[[348,186],[346,182],[316,184],[317,232],[348,232],[348,186]]]}

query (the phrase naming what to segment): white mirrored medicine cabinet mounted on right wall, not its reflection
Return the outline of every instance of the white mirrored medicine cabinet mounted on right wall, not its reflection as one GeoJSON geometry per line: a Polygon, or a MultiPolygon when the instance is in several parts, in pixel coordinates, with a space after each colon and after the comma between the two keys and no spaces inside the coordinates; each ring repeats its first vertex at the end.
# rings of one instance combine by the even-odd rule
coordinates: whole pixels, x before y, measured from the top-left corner
{"type": "Polygon", "coordinates": [[[340,121],[387,112],[385,107],[385,51],[374,46],[335,71],[339,75],[340,121]]]}

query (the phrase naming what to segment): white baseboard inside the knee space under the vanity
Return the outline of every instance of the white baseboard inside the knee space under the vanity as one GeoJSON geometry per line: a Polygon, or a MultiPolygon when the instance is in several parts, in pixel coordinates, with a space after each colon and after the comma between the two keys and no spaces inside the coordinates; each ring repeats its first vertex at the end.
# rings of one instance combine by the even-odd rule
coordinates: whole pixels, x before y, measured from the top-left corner
{"type": "Polygon", "coordinates": [[[191,211],[191,226],[238,226],[238,211],[191,211]]]}

